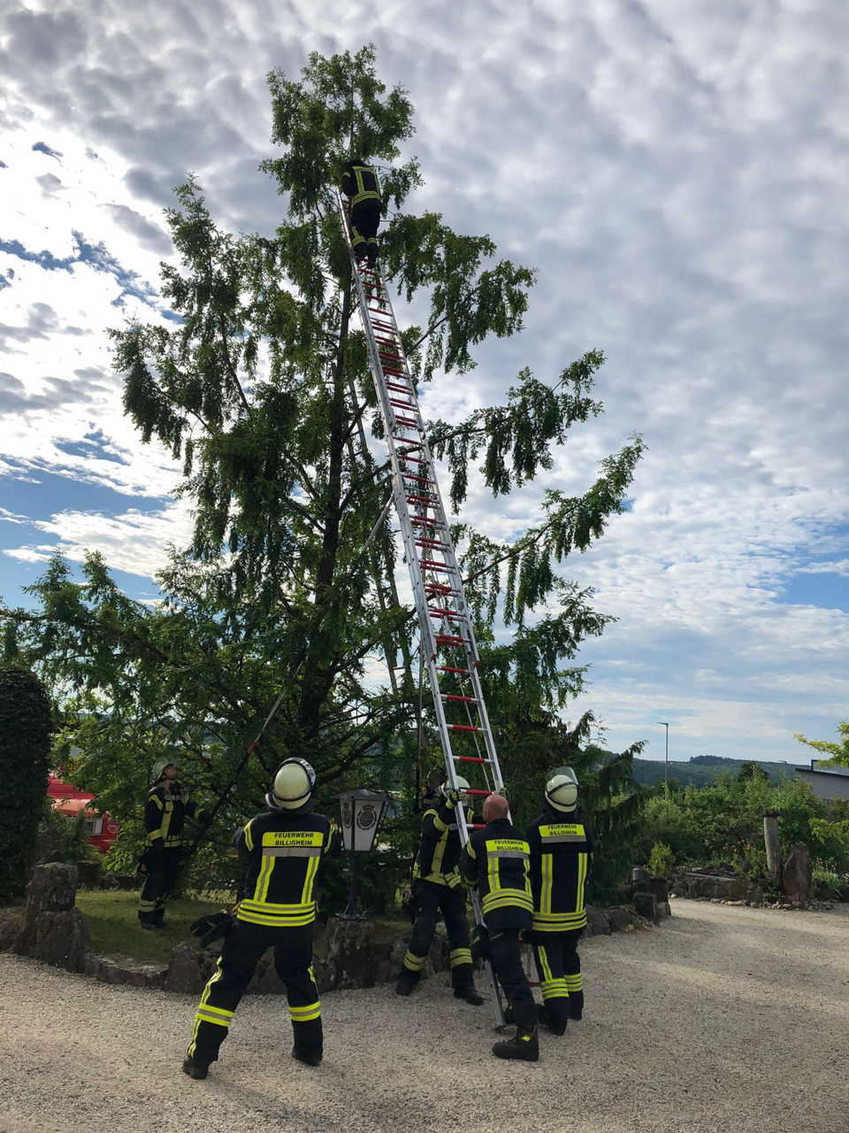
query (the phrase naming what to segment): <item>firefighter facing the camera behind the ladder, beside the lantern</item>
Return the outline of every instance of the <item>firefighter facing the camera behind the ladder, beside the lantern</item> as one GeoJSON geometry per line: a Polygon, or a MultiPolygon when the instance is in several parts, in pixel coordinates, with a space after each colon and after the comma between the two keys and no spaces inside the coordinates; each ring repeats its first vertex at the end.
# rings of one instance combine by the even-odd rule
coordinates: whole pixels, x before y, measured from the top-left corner
{"type": "Polygon", "coordinates": [[[448,934],[454,996],[479,1007],[483,999],[474,989],[465,893],[457,869],[458,824],[466,820],[461,791],[468,790],[469,783],[458,776],[457,787],[454,790],[449,783],[437,786],[421,820],[421,843],[413,868],[413,932],[395,990],[408,996],[419,982],[441,912],[448,934]]]}

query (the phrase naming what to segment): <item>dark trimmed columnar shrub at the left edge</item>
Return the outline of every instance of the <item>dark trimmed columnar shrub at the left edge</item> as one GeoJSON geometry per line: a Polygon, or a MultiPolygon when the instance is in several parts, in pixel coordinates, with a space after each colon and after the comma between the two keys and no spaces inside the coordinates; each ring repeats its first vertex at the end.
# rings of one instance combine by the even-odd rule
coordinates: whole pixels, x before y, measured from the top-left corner
{"type": "Polygon", "coordinates": [[[0,666],[0,774],[12,806],[0,809],[0,904],[26,889],[50,776],[50,697],[33,673],[0,666]]]}

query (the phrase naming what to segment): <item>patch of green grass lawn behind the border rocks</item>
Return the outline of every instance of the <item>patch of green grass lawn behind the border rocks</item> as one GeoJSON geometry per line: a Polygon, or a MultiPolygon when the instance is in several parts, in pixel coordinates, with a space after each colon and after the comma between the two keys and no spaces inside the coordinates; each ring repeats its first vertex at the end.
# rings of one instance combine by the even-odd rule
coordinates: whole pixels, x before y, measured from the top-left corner
{"type": "MultiPolygon", "coordinates": [[[[92,946],[104,955],[131,956],[145,964],[168,964],[171,952],[181,940],[197,945],[189,926],[205,913],[229,909],[233,897],[229,893],[183,896],[169,901],[165,906],[166,929],[145,931],[138,922],[138,893],[80,889],[77,908],[88,921],[92,946]]],[[[409,918],[375,918],[375,939],[389,940],[396,932],[410,928],[409,918]]],[[[324,948],[324,925],[316,930],[315,951],[324,948]]]]}

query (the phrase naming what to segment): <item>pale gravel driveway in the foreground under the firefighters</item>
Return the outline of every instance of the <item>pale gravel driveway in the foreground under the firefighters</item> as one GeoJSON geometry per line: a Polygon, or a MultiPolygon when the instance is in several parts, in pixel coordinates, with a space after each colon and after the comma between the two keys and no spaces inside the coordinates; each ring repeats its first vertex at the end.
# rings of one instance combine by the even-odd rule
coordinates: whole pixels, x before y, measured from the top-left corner
{"type": "Polygon", "coordinates": [[[250,997],[194,1082],[194,997],[2,955],[0,1133],[849,1133],[849,908],[672,911],[584,944],[585,1017],[535,1065],[492,1058],[489,1008],[432,981],[325,995],[318,1068],[250,997]]]}

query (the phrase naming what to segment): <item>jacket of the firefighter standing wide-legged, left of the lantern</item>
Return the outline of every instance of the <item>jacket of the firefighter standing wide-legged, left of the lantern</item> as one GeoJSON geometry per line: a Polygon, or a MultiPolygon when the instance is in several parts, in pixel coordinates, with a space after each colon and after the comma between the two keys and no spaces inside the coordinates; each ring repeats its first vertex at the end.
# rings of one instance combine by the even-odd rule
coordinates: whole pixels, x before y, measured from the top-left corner
{"type": "Polygon", "coordinates": [[[316,919],[312,886],[331,846],[331,820],[312,806],[310,799],[298,810],[264,810],[238,835],[239,857],[248,860],[238,920],[303,928],[316,919]]]}

